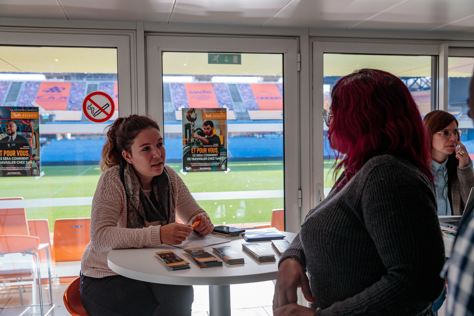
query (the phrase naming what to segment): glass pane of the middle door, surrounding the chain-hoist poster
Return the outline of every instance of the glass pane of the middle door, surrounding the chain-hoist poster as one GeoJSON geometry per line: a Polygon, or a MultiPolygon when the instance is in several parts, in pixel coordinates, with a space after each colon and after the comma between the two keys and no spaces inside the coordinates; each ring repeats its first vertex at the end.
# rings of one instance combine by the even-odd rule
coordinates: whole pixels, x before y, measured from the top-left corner
{"type": "MultiPolygon", "coordinates": [[[[163,52],[162,65],[166,163],[215,225],[269,225],[272,210],[284,208],[283,54],[163,52]],[[214,131],[227,143],[226,172],[183,170],[190,108],[227,109],[227,133],[214,131]]],[[[201,125],[192,129],[205,136],[201,125]]]]}

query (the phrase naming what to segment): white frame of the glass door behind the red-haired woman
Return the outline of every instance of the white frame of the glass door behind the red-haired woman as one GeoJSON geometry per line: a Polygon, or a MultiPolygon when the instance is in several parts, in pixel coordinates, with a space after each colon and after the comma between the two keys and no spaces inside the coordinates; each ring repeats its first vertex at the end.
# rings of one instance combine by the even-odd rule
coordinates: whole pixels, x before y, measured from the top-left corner
{"type": "MultiPolygon", "coordinates": [[[[323,153],[323,128],[322,110],[324,104],[323,93],[323,55],[325,53],[333,54],[382,54],[382,55],[428,55],[439,56],[443,53],[443,45],[434,43],[433,41],[387,41],[387,40],[370,40],[370,39],[318,39],[311,38],[312,42],[312,114],[313,114],[313,144],[312,148],[312,166],[313,183],[324,184],[324,153],[323,153]],[[388,42],[388,43],[387,43],[388,42]],[[423,44],[419,44],[423,43],[423,44]]],[[[441,59],[441,56],[440,56],[441,59]]],[[[440,66],[441,63],[440,63],[440,66]]],[[[447,68],[447,62],[446,62],[447,68]]],[[[441,70],[439,71],[441,72],[441,70]]],[[[439,79],[438,79],[439,80],[439,79]]],[[[441,84],[441,83],[439,83],[441,84]]],[[[439,88],[441,90],[441,87],[439,88]]],[[[447,82],[446,82],[447,89],[447,82]]],[[[439,98],[442,98],[441,95],[439,98]]],[[[441,103],[441,102],[440,102],[441,103]]],[[[447,105],[446,105],[447,107],[447,105]]],[[[319,192],[317,186],[313,185],[313,203],[319,203],[319,192]]],[[[302,210],[302,218],[308,212],[302,210]]]]}

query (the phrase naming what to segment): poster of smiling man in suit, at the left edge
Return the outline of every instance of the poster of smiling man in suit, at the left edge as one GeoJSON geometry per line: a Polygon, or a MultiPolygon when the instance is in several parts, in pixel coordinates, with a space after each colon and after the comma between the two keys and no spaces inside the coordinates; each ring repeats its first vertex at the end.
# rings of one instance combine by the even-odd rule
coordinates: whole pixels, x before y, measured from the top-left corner
{"type": "Polygon", "coordinates": [[[0,177],[39,176],[39,113],[0,107],[0,177]]]}

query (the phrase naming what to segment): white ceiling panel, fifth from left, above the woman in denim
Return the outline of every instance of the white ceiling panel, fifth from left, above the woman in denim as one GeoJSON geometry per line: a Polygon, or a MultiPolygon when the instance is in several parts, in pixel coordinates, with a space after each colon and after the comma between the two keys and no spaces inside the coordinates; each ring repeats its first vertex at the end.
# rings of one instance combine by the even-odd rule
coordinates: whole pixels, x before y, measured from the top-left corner
{"type": "Polygon", "coordinates": [[[472,14],[473,0],[408,0],[354,28],[429,31],[472,14]]]}

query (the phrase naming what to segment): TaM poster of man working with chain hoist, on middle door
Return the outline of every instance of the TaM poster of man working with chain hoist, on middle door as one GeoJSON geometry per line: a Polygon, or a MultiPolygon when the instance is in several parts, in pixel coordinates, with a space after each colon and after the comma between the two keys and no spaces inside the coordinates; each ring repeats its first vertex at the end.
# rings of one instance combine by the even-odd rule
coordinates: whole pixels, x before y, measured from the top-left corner
{"type": "Polygon", "coordinates": [[[227,108],[182,109],[182,169],[227,171],[227,108]]]}

